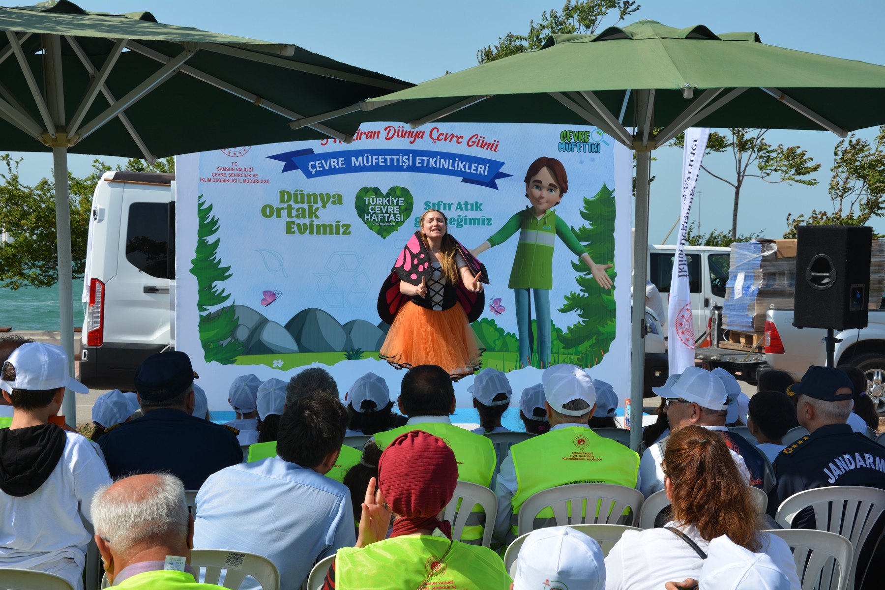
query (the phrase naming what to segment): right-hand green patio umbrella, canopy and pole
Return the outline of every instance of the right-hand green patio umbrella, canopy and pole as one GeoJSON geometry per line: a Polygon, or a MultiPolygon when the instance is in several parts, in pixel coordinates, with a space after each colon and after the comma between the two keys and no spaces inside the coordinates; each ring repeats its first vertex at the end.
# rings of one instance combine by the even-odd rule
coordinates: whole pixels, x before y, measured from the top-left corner
{"type": "MultiPolygon", "coordinates": [[[[553,35],[543,48],[313,117],[345,125],[398,120],[590,124],[635,150],[634,251],[648,241],[650,151],[689,126],[849,131],[885,123],[885,67],[782,49],[755,33],[713,34],[654,20],[600,34],[553,35]],[[360,112],[355,112],[360,111],[360,112]]],[[[645,292],[646,257],[634,262],[645,292]]],[[[643,402],[642,305],[633,307],[631,409],[643,402]]],[[[640,424],[635,416],[633,424],[640,424]]],[[[631,432],[638,448],[640,429],[631,432]]]]}

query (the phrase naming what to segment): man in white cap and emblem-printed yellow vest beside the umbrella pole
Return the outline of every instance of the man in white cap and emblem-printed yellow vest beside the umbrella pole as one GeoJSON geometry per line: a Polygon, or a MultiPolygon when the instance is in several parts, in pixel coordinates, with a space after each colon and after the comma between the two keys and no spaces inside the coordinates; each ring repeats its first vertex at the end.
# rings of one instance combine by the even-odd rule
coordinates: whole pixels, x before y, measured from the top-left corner
{"type": "MultiPolygon", "coordinates": [[[[554,364],[543,372],[542,381],[550,432],[513,445],[497,477],[495,539],[502,543],[516,538],[519,508],[536,492],[575,481],[637,486],[635,451],[590,430],[596,391],[587,372],[573,364],[554,364]]],[[[551,516],[550,508],[544,509],[535,522],[551,516]]]]}

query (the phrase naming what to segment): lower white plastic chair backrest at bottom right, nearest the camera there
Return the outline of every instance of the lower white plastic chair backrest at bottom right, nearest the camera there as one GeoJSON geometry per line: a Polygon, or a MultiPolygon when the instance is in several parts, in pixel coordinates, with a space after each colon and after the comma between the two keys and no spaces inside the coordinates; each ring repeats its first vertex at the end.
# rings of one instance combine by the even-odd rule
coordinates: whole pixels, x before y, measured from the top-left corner
{"type": "Polygon", "coordinates": [[[804,529],[778,529],[766,533],[787,541],[793,551],[802,590],[849,590],[849,571],[854,557],[850,540],[840,534],[804,529]],[[839,566],[838,577],[833,561],[839,566]]]}

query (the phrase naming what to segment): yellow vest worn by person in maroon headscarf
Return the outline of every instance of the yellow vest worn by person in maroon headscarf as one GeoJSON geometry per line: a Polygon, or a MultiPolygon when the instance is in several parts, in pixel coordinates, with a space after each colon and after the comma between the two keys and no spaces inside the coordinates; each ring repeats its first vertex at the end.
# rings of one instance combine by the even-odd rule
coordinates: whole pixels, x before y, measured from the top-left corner
{"type": "Polygon", "coordinates": [[[431,571],[428,590],[507,590],[511,579],[494,551],[458,540],[407,535],[366,548],[340,548],[335,556],[338,590],[417,588],[431,571]],[[451,549],[446,555],[446,550],[451,549]],[[441,562],[445,556],[445,559],[441,562]],[[442,563],[442,564],[441,564],[442,563]]]}

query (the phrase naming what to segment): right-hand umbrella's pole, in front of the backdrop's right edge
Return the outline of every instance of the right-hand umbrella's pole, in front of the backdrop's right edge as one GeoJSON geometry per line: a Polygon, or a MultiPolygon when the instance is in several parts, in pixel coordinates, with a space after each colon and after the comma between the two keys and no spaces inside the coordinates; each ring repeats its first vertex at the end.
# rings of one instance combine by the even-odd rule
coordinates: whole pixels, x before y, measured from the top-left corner
{"type": "Polygon", "coordinates": [[[636,206],[633,235],[633,318],[630,330],[630,448],[639,451],[643,434],[645,382],[645,276],[649,241],[650,151],[636,152],[636,206]]]}

